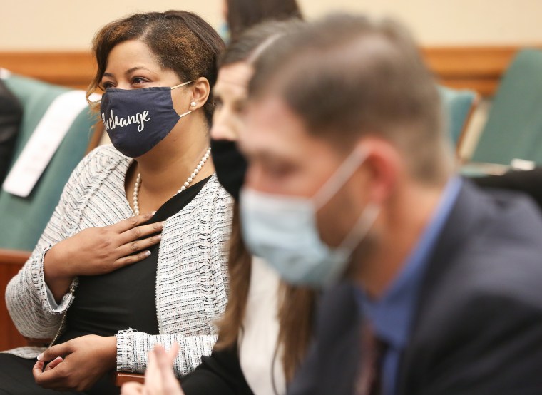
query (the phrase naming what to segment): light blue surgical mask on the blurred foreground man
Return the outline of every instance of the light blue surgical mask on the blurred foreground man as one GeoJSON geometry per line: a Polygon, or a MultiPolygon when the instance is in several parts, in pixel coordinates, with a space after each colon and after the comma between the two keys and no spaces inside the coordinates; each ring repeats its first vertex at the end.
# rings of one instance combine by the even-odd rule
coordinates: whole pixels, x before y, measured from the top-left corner
{"type": "Polygon", "coordinates": [[[369,203],[341,245],[335,248],[320,239],[317,212],[352,177],[365,158],[366,153],[354,150],[312,198],[243,188],[241,227],[250,252],[265,259],[292,284],[327,287],[337,282],[352,252],[377,219],[379,206],[369,203]]]}

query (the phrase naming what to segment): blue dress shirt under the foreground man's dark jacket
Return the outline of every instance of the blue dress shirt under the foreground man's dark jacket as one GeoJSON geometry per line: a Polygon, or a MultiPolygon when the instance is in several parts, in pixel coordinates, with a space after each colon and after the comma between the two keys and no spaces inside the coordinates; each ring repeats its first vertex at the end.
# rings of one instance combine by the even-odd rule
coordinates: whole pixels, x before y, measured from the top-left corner
{"type": "Polygon", "coordinates": [[[358,299],[374,335],[387,344],[382,360],[382,395],[397,395],[399,360],[409,340],[414,310],[427,262],[461,190],[461,178],[451,178],[439,205],[402,271],[384,295],[371,300],[359,289],[358,299]]]}

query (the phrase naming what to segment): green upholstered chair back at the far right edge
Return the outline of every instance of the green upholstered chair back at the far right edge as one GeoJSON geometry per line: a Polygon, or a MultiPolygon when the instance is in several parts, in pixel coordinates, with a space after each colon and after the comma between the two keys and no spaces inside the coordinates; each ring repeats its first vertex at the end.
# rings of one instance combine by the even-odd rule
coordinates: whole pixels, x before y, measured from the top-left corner
{"type": "Polygon", "coordinates": [[[542,164],[542,51],[519,51],[508,67],[474,150],[473,162],[542,164]]]}

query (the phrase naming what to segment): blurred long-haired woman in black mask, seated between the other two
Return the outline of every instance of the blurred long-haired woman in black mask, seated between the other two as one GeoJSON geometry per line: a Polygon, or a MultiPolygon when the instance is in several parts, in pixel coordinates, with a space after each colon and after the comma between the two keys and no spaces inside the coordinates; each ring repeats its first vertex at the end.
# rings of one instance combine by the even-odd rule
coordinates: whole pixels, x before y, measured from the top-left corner
{"type": "MultiPolygon", "coordinates": [[[[220,60],[213,91],[217,106],[211,147],[218,180],[236,202],[246,170],[236,140],[244,125],[252,63],[270,51],[276,39],[301,26],[300,21],[272,21],[252,27],[226,48],[220,60]]],[[[228,262],[230,298],[213,354],[203,357],[202,364],[181,379],[185,395],[285,394],[312,339],[315,291],[281,282],[275,270],[247,252],[237,204],[234,207],[228,262]]],[[[157,388],[163,383],[153,369],[145,377],[145,386],[125,384],[123,394],[160,391],[157,388]]],[[[178,384],[175,393],[182,394],[178,384]]]]}

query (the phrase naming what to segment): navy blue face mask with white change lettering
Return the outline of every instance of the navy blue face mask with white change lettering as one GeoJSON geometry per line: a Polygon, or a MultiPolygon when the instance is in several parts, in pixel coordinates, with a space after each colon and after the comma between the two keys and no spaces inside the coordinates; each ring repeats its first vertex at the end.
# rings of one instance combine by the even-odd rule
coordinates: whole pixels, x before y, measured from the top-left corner
{"type": "Polygon", "coordinates": [[[101,98],[100,113],[113,146],[130,158],[148,153],[170,133],[179,118],[192,112],[178,115],[171,98],[173,89],[191,82],[172,88],[108,88],[101,98]]]}

